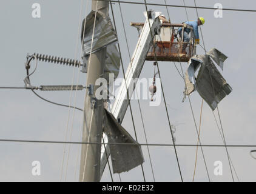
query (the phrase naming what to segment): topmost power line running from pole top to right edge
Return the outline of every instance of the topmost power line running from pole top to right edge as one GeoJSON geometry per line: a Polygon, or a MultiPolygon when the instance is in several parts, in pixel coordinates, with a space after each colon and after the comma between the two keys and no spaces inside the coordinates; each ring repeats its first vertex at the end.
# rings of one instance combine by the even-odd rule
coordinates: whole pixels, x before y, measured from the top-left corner
{"type": "MultiPolygon", "coordinates": [[[[97,0],[92,0],[97,1],[97,0]]],[[[112,0],[98,0],[98,1],[109,1],[109,2],[120,2],[123,4],[137,4],[137,5],[155,5],[155,6],[167,6],[167,7],[180,7],[180,8],[200,8],[200,9],[207,9],[207,10],[217,10],[214,7],[194,7],[194,6],[184,6],[184,5],[165,5],[165,4],[152,4],[152,3],[145,3],[145,2],[130,2],[130,1],[112,1],[112,0]]],[[[225,11],[234,11],[234,12],[256,12],[256,10],[248,10],[248,9],[238,9],[238,8],[222,8],[221,10],[225,11]]]]}

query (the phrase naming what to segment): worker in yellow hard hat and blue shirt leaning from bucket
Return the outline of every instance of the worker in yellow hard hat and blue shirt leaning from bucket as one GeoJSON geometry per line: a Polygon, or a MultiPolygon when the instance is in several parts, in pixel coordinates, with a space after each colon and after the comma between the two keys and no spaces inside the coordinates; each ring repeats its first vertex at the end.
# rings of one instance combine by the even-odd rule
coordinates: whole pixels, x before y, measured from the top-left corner
{"type": "MultiPolygon", "coordinates": [[[[190,25],[193,27],[193,31],[194,31],[194,36],[195,36],[195,44],[199,44],[199,34],[198,34],[198,26],[199,25],[203,25],[204,24],[204,18],[198,18],[197,21],[186,21],[183,23],[184,25],[184,32],[183,32],[183,42],[187,42],[187,44],[189,43],[189,33],[190,33],[190,29],[187,28],[187,25],[190,25]]],[[[180,35],[180,38],[182,39],[182,28],[178,28],[178,33],[180,35]]],[[[176,35],[177,36],[177,35],[176,35]]],[[[187,44],[184,43],[182,46],[182,50],[181,53],[186,54],[186,47],[187,44]]]]}

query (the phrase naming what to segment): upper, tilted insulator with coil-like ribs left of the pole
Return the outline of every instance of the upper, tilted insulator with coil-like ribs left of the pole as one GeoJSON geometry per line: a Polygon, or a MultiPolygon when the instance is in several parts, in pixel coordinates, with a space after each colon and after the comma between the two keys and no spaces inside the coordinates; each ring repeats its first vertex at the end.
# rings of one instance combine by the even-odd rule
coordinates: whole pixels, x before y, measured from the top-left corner
{"type": "Polygon", "coordinates": [[[38,54],[38,53],[34,53],[34,55],[36,56],[36,58],[39,61],[53,62],[56,64],[63,64],[63,65],[69,65],[69,66],[75,65],[75,67],[78,67],[79,64],[81,63],[80,61],[75,60],[75,59],[66,59],[66,58],[61,58],[61,57],[57,57],[57,56],[42,55],[42,54],[38,54]]]}

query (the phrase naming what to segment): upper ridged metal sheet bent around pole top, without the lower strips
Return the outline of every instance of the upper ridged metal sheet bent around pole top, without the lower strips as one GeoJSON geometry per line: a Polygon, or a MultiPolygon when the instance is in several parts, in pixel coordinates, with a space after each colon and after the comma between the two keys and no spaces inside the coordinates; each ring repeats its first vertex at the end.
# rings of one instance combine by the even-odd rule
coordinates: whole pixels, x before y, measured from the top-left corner
{"type": "MultiPolygon", "coordinates": [[[[104,8],[106,9],[106,8],[104,8]]],[[[84,42],[83,49],[84,55],[89,55],[92,45],[92,52],[96,52],[102,47],[113,44],[118,41],[115,29],[113,28],[111,19],[108,14],[103,12],[104,10],[98,10],[96,12],[96,21],[95,21],[95,30],[93,35],[93,25],[95,20],[95,10],[89,13],[86,17],[86,27],[85,30],[82,30],[81,38],[84,42]],[[93,44],[92,44],[92,35],[93,35],[93,44]]],[[[84,21],[82,24],[84,27],[84,21]]]]}

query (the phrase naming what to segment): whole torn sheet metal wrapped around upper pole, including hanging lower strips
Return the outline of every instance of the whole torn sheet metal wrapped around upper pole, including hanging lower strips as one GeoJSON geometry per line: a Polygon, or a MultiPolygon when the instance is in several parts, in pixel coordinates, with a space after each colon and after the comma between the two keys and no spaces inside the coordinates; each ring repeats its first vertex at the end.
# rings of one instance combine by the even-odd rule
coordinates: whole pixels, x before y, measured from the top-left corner
{"type": "Polygon", "coordinates": [[[107,58],[106,58],[106,78],[109,73],[114,74],[114,78],[117,78],[120,70],[120,53],[116,48],[116,43],[118,42],[115,29],[113,28],[111,19],[109,17],[107,9],[101,8],[97,10],[96,21],[95,21],[95,30],[93,34],[93,26],[95,20],[95,11],[89,13],[86,17],[86,26],[84,27],[85,19],[82,24],[81,39],[83,40],[83,69],[82,72],[87,72],[87,62],[90,55],[91,45],[92,53],[100,50],[103,47],[107,47],[107,58]],[[106,14],[107,13],[107,14],[106,14]],[[93,42],[92,42],[93,37],[93,42]]]}

